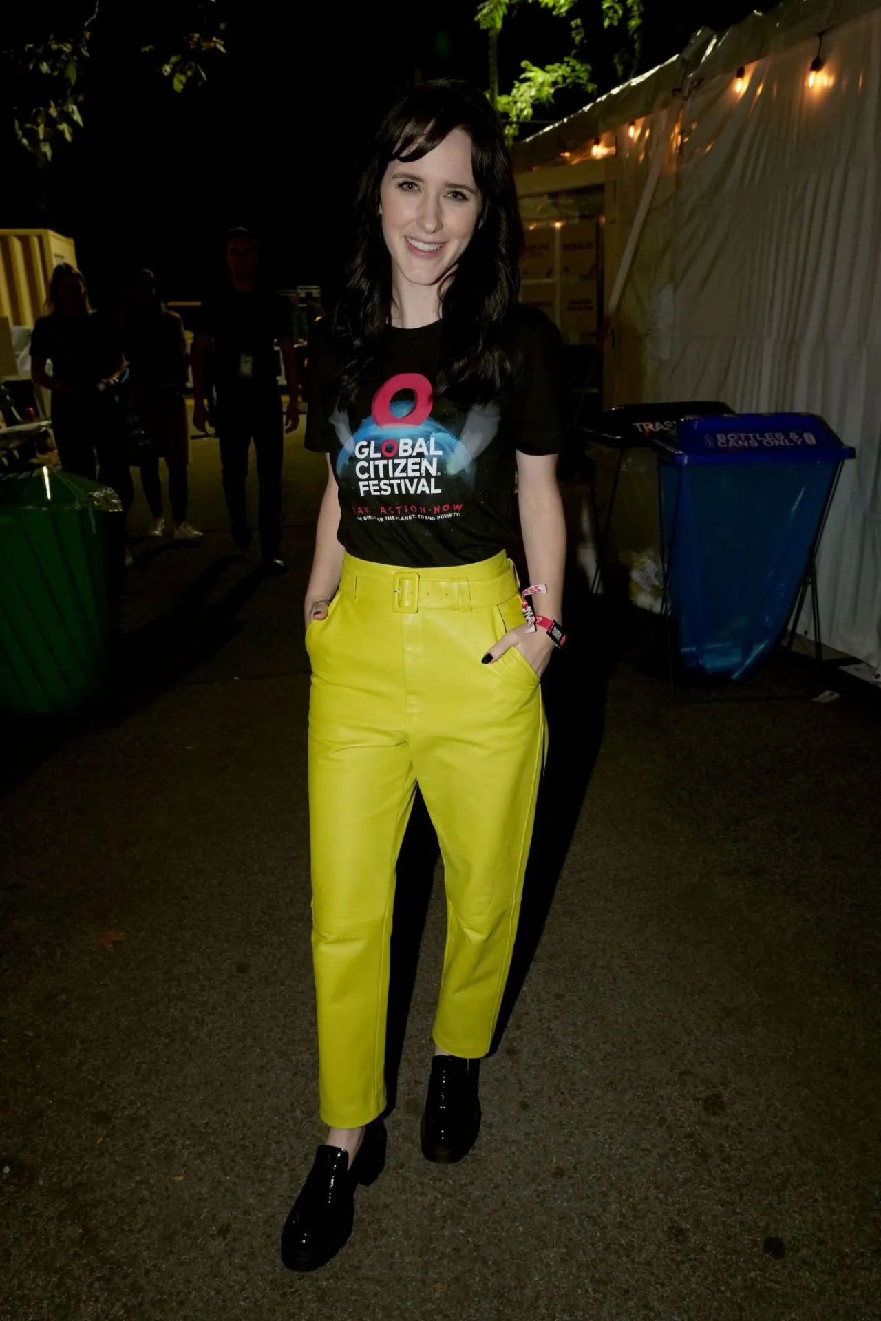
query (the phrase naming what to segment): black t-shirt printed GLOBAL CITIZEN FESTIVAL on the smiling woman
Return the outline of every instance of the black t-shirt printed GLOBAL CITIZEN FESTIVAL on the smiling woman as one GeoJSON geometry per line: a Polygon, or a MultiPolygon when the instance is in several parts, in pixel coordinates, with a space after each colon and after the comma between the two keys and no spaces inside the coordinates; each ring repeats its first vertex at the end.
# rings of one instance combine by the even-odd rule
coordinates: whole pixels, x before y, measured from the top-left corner
{"type": "MultiPolygon", "coordinates": [[[[341,410],[342,365],[330,318],[309,339],[308,449],[330,454],[339,486],[339,540],[380,564],[474,564],[505,550],[514,522],[515,450],[563,444],[561,341],[543,312],[518,305],[505,398],[469,403],[435,394],[440,321],[390,326],[358,398],[341,410]]],[[[454,398],[453,398],[454,395],[454,398]]]]}

